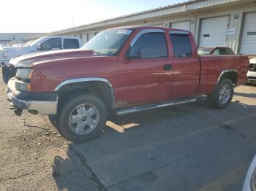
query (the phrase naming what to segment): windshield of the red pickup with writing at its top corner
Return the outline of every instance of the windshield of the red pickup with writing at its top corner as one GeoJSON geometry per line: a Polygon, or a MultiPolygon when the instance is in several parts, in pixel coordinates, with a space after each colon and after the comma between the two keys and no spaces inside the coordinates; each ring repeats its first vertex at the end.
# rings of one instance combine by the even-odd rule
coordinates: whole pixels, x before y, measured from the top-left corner
{"type": "Polygon", "coordinates": [[[116,55],[127,41],[131,29],[110,29],[102,31],[81,47],[103,55],[116,55]]]}

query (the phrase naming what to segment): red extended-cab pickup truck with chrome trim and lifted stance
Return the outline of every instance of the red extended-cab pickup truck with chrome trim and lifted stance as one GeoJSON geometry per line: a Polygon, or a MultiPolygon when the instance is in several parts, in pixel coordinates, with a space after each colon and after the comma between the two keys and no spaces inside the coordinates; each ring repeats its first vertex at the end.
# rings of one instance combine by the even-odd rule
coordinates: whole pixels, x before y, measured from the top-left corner
{"type": "Polygon", "coordinates": [[[189,31],[128,26],[102,31],[78,50],[10,61],[7,97],[16,112],[48,114],[65,139],[99,134],[117,115],[196,101],[222,109],[246,81],[246,56],[198,56],[189,31]]]}

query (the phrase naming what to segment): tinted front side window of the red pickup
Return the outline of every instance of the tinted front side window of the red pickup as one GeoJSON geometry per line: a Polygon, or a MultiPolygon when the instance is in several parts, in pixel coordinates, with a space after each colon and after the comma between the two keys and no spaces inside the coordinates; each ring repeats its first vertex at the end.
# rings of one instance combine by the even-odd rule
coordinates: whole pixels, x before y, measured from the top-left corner
{"type": "Polygon", "coordinates": [[[129,52],[135,58],[167,58],[168,53],[165,34],[142,34],[135,44],[130,48],[129,52]],[[138,57],[135,55],[138,55],[138,57]]]}

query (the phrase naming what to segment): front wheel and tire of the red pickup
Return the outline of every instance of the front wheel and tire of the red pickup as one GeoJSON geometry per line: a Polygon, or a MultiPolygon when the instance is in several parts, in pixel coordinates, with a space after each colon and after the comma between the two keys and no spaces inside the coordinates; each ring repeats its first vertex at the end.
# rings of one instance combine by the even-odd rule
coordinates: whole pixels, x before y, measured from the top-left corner
{"type": "Polygon", "coordinates": [[[82,94],[69,97],[64,103],[56,124],[64,139],[80,143],[95,138],[105,128],[107,110],[99,98],[82,94]]]}

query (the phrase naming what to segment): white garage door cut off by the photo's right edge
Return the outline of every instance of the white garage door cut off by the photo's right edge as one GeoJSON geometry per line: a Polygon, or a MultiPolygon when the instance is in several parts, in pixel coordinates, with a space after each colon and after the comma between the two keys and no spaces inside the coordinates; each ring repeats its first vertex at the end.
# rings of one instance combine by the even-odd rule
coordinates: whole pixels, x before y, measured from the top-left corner
{"type": "Polygon", "coordinates": [[[256,12],[245,15],[240,53],[256,54],[256,12]]]}

